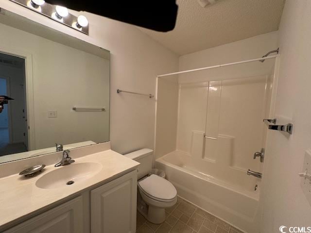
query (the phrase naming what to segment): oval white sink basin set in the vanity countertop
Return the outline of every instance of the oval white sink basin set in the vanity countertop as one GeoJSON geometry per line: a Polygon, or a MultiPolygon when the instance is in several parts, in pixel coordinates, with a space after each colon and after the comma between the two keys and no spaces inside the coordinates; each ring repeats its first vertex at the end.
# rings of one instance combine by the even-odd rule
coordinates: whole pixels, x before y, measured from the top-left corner
{"type": "Polygon", "coordinates": [[[103,166],[98,163],[70,164],[43,175],[35,185],[39,188],[70,187],[93,177],[103,166]],[[68,184],[69,183],[69,184],[68,184]]]}

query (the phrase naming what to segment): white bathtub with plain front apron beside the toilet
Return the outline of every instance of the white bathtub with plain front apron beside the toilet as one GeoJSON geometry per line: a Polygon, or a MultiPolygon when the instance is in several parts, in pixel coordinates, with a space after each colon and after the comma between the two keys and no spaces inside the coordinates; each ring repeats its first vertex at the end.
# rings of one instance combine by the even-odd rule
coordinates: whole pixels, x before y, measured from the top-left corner
{"type": "Polygon", "coordinates": [[[258,178],[235,168],[208,170],[212,168],[208,161],[196,164],[191,156],[180,151],[156,159],[155,167],[166,172],[167,179],[182,198],[244,232],[259,232],[258,178]]]}

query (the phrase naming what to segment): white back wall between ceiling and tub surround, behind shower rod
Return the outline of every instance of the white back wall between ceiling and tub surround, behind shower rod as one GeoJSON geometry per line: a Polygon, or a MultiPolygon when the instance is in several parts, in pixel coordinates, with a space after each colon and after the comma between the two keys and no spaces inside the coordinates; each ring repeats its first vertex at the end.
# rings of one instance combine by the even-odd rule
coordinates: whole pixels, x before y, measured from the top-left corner
{"type": "MultiPolygon", "coordinates": [[[[182,71],[259,58],[268,51],[276,50],[277,35],[277,32],[266,33],[180,56],[179,70],[182,71]]],[[[238,73],[237,77],[241,77],[241,75],[244,77],[265,75],[267,71],[271,71],[271,67],[273,67],[272,64],[274,64],[274,59],[266,60],[264,63],[253,62],[231,67],[222,67],[220,69],[198,71],[195,73],[188,73],[189,75],[180,75],[179,82],[187,83],[187,78],[190,78],[191,82],[204,82],[207,81],[207,78],[208,81],[222,80],[228,78],[228,74],[231,78],[235,78],[236,73],[238,73]],[[193,74],[195,74],[195,76],[193,74]]]]}

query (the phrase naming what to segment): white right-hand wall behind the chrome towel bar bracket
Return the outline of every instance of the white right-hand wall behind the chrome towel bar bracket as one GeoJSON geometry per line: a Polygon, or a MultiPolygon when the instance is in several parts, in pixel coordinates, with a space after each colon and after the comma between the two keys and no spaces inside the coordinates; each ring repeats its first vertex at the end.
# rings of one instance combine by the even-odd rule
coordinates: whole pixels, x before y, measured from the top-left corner
{"type": "MultiPolygon", "coordinates": [[[[281,225],[311,226],[311,205],[298,173],[311,148],[311,1],[287,0],[279,28],[280,73],[276,116],[293,120],[288,136],[269,132],[264,168],[265,192],[261,233],[279,232],[281,225]]],[[[289,229],[285,229],[289,232],[289,229]]]]}

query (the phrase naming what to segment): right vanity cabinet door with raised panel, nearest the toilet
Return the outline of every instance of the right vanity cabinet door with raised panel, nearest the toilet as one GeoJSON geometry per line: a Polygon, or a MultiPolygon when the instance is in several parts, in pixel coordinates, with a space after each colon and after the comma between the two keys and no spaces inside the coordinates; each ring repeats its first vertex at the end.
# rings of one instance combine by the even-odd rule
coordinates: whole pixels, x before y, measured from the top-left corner
{"type": "Polygon", "coordinates": [[[135,233],[137,170],[91,191],[91,233],[135,233]]]}

